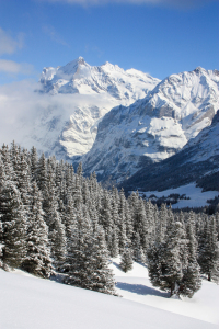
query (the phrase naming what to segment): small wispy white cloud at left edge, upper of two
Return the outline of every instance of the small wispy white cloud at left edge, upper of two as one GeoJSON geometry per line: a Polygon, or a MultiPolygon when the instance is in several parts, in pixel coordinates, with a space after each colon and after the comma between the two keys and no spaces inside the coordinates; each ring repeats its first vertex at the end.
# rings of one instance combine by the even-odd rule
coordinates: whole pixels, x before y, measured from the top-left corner
{"type": "Polygon", "coordinates": [[[24,34],[19,33],[16,38],[0,27],[0,55],[13,54],[23,47],[24,34]]]}

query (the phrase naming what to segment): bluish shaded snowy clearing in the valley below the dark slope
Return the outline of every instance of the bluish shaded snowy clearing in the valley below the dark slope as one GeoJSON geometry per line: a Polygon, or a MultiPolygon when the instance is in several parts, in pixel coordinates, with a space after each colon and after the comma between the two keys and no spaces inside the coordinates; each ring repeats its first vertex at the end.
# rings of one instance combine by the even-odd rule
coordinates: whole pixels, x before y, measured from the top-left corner
{"type": "Polygon", "coordinates": [[[208,191],[208,192],[201,192],[203,189],[196,188],[196,183],[191,183],[184,186],[180,186],[177,189],[170,189],[165,191],[150,191],[150,192],[140,192],[139,194],[146,195],[146,197],[149,197],[151,194],[154,194],[157,197],[161,196],[169,196],[172,193],[176,194],[185,194],[186,197],[189,197],[189,200],[178,200],[178,203],[173,204],[172,208],[184,208],[184,207],[201,207],[209,205],[207,203],[207,200],[215,198],[215,196],[218,196],[217,191],[208,191]]]}

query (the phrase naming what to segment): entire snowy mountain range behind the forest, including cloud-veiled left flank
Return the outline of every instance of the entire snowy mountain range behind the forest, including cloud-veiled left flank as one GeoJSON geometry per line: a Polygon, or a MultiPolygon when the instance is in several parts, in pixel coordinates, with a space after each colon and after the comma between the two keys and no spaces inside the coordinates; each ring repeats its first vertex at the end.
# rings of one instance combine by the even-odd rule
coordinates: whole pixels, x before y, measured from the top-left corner
{"type": "MultiPolygon", "coordinates": [[[[161,81],[110,63],[90,66],[79,57],[44,68],[35,92],[27,100],[24,94],[21,104],[16,99],[12,113],[22,112],[23,104],[28,111],[13,120],[4,111],[2,136],[7,132],[22,147],[34,145],[39,154],[76,167],[82,161],[84,173],[95,171],[106,185],[165,189],[168,182],[178,184],[168,175],[176,172],[180,178],[182,168],[200,181],[219,167],[218,70],[197,67],[161,81]],[[161,173],[164,179],[158,185],[161,173]]],[[[192,179],[186,177],[183,183],[192,179]]]]}

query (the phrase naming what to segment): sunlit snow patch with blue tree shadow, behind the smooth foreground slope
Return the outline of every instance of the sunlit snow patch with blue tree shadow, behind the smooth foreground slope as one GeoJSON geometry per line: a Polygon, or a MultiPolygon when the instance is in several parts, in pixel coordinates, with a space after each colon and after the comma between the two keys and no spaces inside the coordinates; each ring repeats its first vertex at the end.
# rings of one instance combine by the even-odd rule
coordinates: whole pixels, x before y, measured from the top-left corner
{"type": "MultiPolygon", "coordinates": [[[[169,293],[153,287],[145,265],[135,263],[131,271],[124,273],[119,269],[117,258],[113,261],[112,268],[116,275],[117,293],[125,299],[219,326],[219,285],[216,283],[203,280],[201,288],[194,294],[193,298],[181,297],[180,300],[170,298],[169,293]]],[[[208,325],[206,325],[207,328],[208,325]]]]}

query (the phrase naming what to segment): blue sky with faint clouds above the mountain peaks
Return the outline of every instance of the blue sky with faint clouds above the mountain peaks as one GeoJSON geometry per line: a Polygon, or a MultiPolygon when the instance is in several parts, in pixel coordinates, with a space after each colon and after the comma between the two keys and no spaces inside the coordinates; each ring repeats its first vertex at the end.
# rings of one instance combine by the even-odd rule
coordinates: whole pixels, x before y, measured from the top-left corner
{"type": "Polygon", "coordinates": [[[0,84],[79,56],[160,79],[219,69],[218,19],[218,0],[0,0],[0,84]]]}

